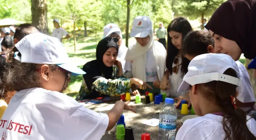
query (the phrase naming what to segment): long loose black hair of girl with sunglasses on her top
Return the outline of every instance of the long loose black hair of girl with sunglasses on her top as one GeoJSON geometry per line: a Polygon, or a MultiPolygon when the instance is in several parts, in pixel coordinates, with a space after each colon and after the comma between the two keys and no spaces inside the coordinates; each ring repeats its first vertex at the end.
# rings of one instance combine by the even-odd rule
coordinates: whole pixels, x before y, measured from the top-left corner
{"type": "MultiPolygon", "coordinates": [[[[192,31],[192,27],[190,23],[183,17],[175,18],[167,28],[167,32],[175,31],[182,34],[182,40],[186,36],[186,34],[190,31],[192,31]]],[[[167,36],[167,57],[166,57],[166,68],[169,70],[169,73],[172,74],[172,64],[174,61],[174,58],[178,54],[178,49],[172,44],[171,37],[167,36]]],[[[181,62],[181,72],[182,75],[186,74],[188,72],[188,64],[189,60],[185,58],[183,55],[182,62],[181,62]]]]}

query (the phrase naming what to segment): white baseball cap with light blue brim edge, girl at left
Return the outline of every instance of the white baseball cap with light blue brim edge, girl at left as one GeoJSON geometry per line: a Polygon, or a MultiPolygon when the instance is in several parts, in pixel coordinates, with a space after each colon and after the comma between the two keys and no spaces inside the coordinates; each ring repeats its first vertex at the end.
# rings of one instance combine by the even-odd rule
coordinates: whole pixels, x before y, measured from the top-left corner
{"type": "Polygon", "coordinates": [[[59,39],[42,33],[33,33],[21,39],[15,47],[14,58],[21,63],[56,64],[71,72],[72,76],[86,74],[83,70],[69,62],[68,54],[59,39]],[[21,54],[21,56],[19,55],[21,54]]]}

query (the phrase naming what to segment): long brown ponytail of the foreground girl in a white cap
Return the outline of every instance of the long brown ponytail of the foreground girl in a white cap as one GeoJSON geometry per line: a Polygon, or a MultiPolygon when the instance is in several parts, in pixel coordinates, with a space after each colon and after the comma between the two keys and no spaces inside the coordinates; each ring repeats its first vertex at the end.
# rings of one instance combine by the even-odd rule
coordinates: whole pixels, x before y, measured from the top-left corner
{"type": "MultiPolygon", "coordinates": [[[[223,74],[237,77],[235,70],[231,68],[223,74]]],[[[222,81],[211,81],[197,86],[204,98],[215,100],[222,108],[222,124],[226,133],[224,140],[256,140],[256,137],[247,127],[246,112],[240,108],[235,109],[232,104],[231,96],[236,97],[236,85],[222,81]]]]}

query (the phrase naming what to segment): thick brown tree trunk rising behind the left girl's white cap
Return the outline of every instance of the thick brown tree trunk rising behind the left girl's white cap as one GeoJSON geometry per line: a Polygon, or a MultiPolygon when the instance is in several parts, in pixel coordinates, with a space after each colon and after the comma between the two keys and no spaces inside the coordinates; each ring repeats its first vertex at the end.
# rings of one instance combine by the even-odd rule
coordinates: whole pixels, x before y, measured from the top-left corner
{"type": "Polygon", "coordinates": [[[47,0],[31,0],[32,24],[39,31],[48,34],[47,0]]]}

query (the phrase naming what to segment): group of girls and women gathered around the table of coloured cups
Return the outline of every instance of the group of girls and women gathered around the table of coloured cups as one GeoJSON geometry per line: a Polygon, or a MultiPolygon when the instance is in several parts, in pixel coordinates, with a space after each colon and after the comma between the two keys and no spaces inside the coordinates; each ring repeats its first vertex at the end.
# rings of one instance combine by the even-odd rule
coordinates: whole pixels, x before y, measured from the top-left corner
{"type": "Polygon", "coordinates": [[[254,109],[255,97],[248,72],[238,61],[241,53],[256,56],[251,52],[255,42],[250,40],[255,37],[255,21],[247,19],[250,24],[241,27],[241,22],[230,21],[243,14],[234,14],[225,19],[230,24],[219,24],[241,7],[239,12],[256,15],[255,10],[246,10],[253,9],[251,3],[223,3],[205,25],[207,31],[193,31],[186,19],[174,19],[167,28],[167,50],[153,39],[147,16],[134,19],[130,36],[136,43],[129,48],[123,45],[118,26],[108,24],[96,60],[83,70],[69,61],[60,39],[21,24],[14,47],[0,56],[0,104],[8,104],[1,108],[0,139],[99,140],[124,109],[136,111],[129,101],[117,101],[107,114],[97,113],[76,100],[120,96],[129,90],[134,95],[169,90],[165,92],[190,102],[200,116],[184,122],[177,140],[255,140],[256,121],[246,113],[254,109]],[[83,75],[83,82],[74,100],[61,92],[70,76],[78,75],[83,75]]]}

